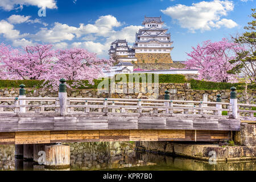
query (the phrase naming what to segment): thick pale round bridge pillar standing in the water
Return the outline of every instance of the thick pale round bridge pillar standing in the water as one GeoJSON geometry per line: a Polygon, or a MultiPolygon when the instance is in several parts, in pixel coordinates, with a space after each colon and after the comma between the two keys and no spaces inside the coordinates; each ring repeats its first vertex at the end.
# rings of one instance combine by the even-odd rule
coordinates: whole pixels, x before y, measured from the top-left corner
{"type": "Polygon", "coordinates": [[[69,168],[70,147],[63,144],[45,146],[47,168],[69,168]]]}

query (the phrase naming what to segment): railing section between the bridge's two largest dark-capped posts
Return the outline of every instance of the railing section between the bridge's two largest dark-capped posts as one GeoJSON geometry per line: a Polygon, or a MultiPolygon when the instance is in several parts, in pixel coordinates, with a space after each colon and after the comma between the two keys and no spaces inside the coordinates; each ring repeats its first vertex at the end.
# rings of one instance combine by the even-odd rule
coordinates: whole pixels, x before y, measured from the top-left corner
{"type": "Polygon", "coordinates": [[[68,113],[162,113],[162,114],[199,114],[230,115],[231,105],[226,102],[201,102],[180,100],[145,100],[130,98],[67,98],[68,113]],[[79,104],[77,104],[79,103],[79,104]],[[204,104],[215,105],[207,106],[204,104]],[[228,109],[222,108],[226,105],[228,109]]]}

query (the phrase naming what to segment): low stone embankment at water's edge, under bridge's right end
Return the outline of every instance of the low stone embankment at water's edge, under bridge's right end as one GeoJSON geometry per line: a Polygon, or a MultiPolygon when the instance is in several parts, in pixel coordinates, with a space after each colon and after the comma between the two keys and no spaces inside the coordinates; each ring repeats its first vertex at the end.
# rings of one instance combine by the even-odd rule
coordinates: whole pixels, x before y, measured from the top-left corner
{"type": "Polygon", "coordinates": [[[139,150],[209,160],[210,151],[216,152],[217,162],[255,160],[256,146],[219,146],[218,144],[140,142],[139,150]]]}

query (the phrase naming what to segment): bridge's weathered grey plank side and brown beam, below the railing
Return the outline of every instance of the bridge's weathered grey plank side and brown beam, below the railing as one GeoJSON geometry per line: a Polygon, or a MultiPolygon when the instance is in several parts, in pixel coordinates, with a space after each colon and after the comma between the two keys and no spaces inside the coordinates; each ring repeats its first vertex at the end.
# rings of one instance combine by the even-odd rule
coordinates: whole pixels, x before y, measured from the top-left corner
{"type": "Polygon", "coordinates": [[[218,141],[230,139],[241,121],[189,114],[0,114],[0,144],[106,141],[218,141]]]}

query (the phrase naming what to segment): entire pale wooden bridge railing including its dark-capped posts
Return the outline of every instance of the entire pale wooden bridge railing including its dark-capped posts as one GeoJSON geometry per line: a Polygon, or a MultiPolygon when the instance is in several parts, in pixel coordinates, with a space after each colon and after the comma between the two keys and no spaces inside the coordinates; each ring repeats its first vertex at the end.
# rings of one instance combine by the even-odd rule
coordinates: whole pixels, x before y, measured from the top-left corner
{"type": "Polygon", "coordinates": [[[65,80],[61,79],[59,97],[26,97],[20,85],[19,97],[0,97],[1,113],[55,113],[61,116],[84,113],[149,113],[191,117],[233,117],[254,119],[256,105],[237,104],[236,88],[231,88],[230,102],[170,100],[166,91],[164,100],[134,98],[68,98],[65,80]]]}

